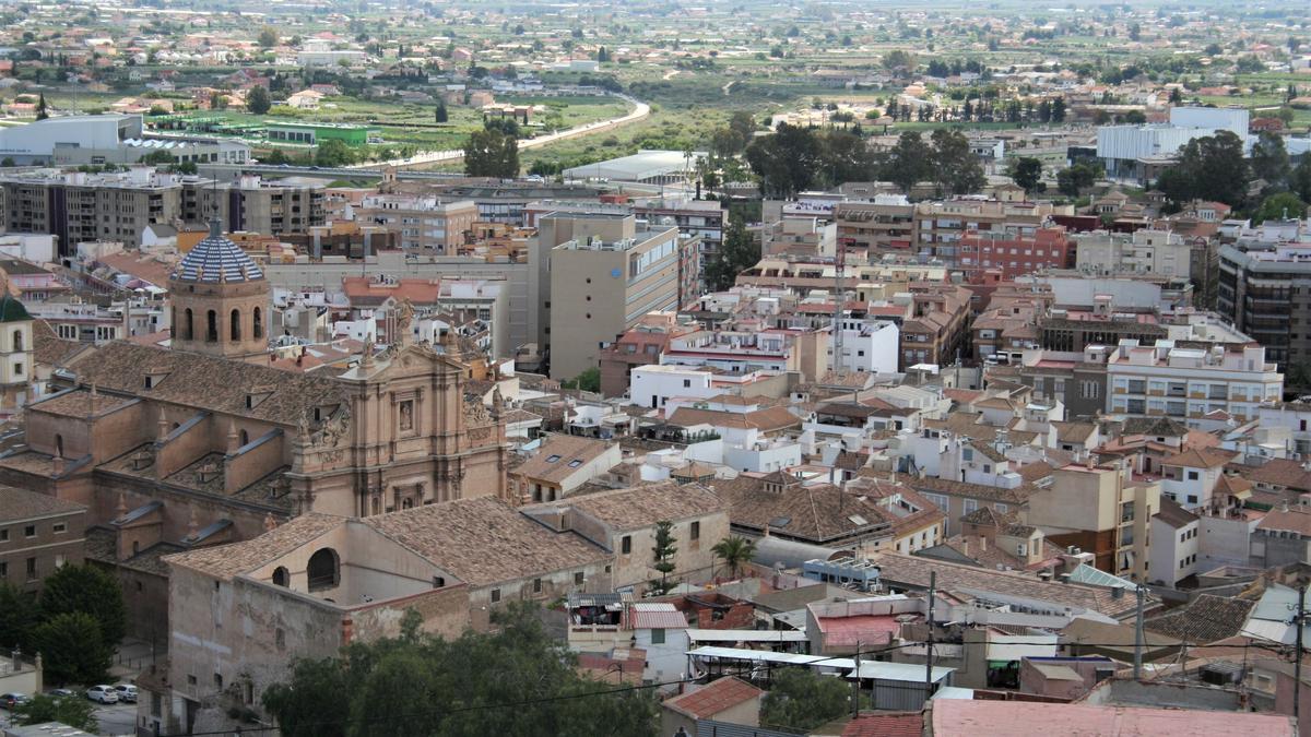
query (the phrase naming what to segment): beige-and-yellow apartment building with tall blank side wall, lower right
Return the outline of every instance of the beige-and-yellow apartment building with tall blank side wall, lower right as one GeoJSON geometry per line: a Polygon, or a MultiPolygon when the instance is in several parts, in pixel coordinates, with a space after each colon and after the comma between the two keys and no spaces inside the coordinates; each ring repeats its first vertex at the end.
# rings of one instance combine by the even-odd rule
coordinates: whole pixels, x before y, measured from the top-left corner
{"type": "Polygon", "coordinates": [[[1058,546],[1093,555],[1116,576],[1148,580],[1151,518],[1160,511],[1160,481],[1135,480],[1114,464],[1070,464],[1029,497],[1028,523],[1058,546]]]}

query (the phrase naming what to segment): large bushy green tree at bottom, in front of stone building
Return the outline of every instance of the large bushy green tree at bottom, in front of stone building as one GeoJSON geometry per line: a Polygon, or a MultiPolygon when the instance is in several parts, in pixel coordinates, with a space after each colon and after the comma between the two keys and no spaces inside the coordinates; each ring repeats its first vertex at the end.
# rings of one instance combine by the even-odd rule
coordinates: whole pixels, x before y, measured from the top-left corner
{"type": "Polygon", "coordinates": [[[429,734],[632,734],[657,730],[648,690],[614,691],[579,675],[577,658],[538,612],[514,605],[493,633],[354,643],[341,656],[296,661],[264,706],[287,737],[429,734]],[[522,708],[498,704],[524,703],[522,708]]]}

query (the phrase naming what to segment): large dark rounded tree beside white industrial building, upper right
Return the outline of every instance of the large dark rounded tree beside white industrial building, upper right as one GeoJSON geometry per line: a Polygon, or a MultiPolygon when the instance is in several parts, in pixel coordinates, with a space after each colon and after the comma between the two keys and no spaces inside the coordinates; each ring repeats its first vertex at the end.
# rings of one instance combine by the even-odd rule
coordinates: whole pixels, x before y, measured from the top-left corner
{"type": "Polygon", "coordinates": [[[1179,161],[1160,173],[1156,188],[1172,202],[1192,199],[1242,207],[1252,181],[1243,157],[1243,139],[1231,131],[1194,138],[1180,148],[1179,161]]]}

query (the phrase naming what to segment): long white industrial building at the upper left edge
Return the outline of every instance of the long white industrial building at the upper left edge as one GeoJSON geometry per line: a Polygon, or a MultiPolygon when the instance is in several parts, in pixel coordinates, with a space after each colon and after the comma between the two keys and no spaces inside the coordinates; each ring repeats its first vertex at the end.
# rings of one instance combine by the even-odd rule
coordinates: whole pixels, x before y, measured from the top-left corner
{"type": "Polygon", "coordinates": [[[20,167],[132,164],[157,151],[198,164],[250,160],[250,147],[236,140],[146,138],[140,115],[68,115],[0,129],[0,159],[20,167]]]}

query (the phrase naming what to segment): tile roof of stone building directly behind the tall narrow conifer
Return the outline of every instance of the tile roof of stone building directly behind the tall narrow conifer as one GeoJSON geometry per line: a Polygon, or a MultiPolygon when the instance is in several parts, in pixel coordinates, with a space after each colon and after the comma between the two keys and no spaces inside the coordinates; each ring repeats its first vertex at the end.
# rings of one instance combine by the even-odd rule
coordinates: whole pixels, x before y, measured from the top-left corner
{"type": "Polygon", "coordinates": [[[676,522],[728,511],[729,506],[700,484],[650,484],[586,494],[569,508],[614,530],[637,530],[661,521],[676,522]]]}

